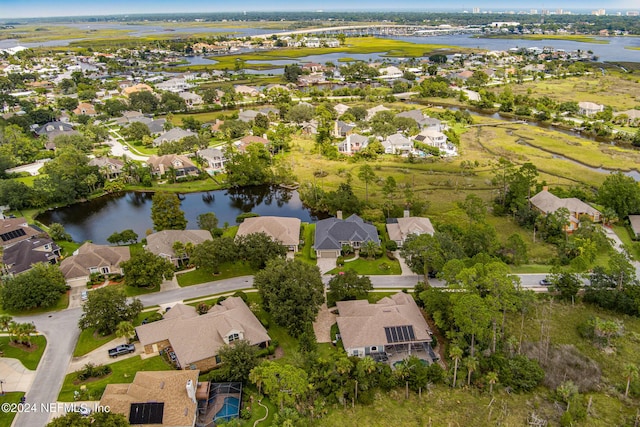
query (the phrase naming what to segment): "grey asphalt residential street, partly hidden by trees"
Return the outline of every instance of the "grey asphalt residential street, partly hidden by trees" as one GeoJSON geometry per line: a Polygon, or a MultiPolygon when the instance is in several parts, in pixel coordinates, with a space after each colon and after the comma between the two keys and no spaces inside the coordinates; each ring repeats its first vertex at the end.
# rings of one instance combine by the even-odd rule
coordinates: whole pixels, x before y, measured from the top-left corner
{"type": "MultiPolygon", "coordinates": [[[[420,276],[370,277],[374,288],[382,289],[411,289],[420,279],[420,276]]],[[[537,286],[545,275],[522,274],[520,277],[524,287],[533,287],[537,286]]],[[[325,276],[325,283],[329,279],[329,276],[325,276]]],[[[162,305],[249,288],[252,284],[253,276],[242,276],[161,293],[142,295],[140,300],[145,307],[162,305]]],[[[444,283],[438,280],[430,280],[430,284],[444,287],[444,283]]],[[[34,407],[30,406],[29,409],[35,409],[18,414],[14,420],[14,426],[44,426],[49,421],[51,414],[42,410],[42,404],[49,405],[57,401],[67,368],[71,363],[73,349],[80,335],[78,320],[81,314],[81,308],[72,308],[50,314],[45,313],[36,316],[17,317],[15,319],[19,322],[34,322],[37,330],[46,336],[47,348],[38,366],[33,386],[26,396],[27,403],[30,405],[35,404],[34,407]]]]}

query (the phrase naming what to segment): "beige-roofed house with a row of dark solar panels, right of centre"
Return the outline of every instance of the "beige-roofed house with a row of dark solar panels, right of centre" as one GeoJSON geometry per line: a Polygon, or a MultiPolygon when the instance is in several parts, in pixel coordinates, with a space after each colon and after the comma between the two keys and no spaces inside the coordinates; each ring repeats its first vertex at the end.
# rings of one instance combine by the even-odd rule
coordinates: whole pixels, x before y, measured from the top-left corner
{"type": "Polygon", "coordinates": [[[338,301],[338,329],[349,356],[386,360],[395,353],[420,354],[433,360],[431,330],[413,297],[398,292],[375,304],[338,301]]]}

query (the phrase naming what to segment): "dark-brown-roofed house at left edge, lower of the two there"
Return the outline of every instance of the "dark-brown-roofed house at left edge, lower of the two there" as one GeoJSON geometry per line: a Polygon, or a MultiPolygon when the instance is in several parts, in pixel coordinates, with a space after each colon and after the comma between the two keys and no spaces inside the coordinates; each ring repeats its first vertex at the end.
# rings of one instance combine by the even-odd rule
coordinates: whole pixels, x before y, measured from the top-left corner
{"type": "Polygon", "coordinates": [[[39,262],[56,264],[60,255],[60,246],[49,237],[30,237],[3,250],[3,270],[5,274],[20,274],[39,262]]]}

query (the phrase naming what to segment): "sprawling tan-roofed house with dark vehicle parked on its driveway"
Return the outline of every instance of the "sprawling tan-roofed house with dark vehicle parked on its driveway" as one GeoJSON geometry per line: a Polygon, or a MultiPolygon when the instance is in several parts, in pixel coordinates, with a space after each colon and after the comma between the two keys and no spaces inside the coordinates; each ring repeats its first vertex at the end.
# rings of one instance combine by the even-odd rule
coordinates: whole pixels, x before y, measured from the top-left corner
{"type": "Polygon", "coordinates": [[[182,369],[208,371],[220,363],[220,348],[245,340],[266,347],[271,338],[240,297],[230,297],[199,315],[195,307],[176,304],[163,320],[136,327],[146,354],[167,349],[182,369]],[[170,348],[170,349],[169,349],[170,348]]]}

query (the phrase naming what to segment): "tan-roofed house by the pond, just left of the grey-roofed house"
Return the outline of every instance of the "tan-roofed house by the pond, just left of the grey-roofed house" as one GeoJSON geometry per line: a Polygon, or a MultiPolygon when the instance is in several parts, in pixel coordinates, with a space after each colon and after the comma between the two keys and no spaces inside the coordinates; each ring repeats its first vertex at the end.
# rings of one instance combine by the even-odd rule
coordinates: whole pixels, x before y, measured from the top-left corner
{"type": "Polygon", "coordinates": [[[272,240],[286,246],[291,252],[298,252],[300,219],[280,216],[247,218],[238,227],[236,237],[254,233],[264,233],[272,240]]]}

